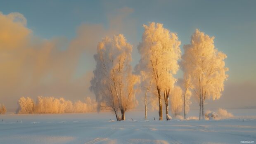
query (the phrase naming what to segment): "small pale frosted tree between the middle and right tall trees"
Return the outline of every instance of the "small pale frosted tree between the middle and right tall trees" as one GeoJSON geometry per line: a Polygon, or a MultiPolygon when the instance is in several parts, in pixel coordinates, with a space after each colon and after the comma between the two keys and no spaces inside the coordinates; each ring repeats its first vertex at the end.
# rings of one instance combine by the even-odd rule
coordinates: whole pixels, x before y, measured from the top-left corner
{"type": "Polygon", "coordinates": [[[183,106],[182,89],[175,86],[171,92],[171,112],[176,117],[181,111],[183,106]]]}

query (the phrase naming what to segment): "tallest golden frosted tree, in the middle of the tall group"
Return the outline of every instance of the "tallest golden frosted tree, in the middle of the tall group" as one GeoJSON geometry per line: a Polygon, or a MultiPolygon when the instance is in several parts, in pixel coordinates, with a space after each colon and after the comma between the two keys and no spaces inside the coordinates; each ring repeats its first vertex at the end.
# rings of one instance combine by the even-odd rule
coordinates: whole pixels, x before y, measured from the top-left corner
{"type": "Polygon", "coordinates": [[[159,101],[159,120],[163,120],[161,94],[164,93],[168,114],[168,97],[175,82],[172,75],[179,69],[180,41],[177,34],[170,33],[163,24],[152,22],[143,27],[145,31],[138,46],[141,56],[139,67],[153,80],[152,88],[156,90],[159,101]]]}

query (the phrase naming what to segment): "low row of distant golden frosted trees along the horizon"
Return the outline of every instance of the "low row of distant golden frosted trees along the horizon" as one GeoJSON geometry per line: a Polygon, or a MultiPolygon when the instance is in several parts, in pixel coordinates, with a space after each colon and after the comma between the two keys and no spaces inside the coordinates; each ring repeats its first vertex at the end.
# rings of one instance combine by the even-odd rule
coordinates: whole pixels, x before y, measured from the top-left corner
{"type": "Polygon", "coordinates": [[[21,97],[18,101],[16,113],[88,113],[95,112],[97,102],[90,97],[85,98],[85,102],[77,101],[73,104],[70,100],[54,97],[37,97],[36,103],[29,97],[21,97]]]}

